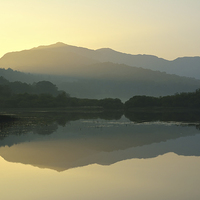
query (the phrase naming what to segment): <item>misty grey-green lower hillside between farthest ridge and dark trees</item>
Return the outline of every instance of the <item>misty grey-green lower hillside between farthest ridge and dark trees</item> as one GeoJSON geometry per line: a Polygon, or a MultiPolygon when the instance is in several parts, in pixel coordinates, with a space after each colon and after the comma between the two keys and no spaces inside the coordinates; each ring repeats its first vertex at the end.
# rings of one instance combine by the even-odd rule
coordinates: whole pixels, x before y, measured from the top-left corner
{"type": "Polygon", "coordinates": [[[109,62],[85,66],[74,77],[26,74],[12,69],[0,69],[0,74],[10,77],[10,81],[51,81],[59,90],[79,98],[112,97],[125,101],[134,95],[164,96],[200,88],[197,79],[109,62]]]}

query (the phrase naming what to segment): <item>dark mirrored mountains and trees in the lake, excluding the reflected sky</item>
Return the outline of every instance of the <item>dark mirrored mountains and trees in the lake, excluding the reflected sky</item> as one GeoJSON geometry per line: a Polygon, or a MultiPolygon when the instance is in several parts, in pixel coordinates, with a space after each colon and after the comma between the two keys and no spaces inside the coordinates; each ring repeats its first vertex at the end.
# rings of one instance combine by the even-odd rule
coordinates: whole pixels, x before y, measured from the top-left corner
{"type": "Polygon", "coordinates": [[[22,113],[1,123],[0,156],[57,171],[167,152],[200,156],[199,115],[170,115],[22,113]]]}

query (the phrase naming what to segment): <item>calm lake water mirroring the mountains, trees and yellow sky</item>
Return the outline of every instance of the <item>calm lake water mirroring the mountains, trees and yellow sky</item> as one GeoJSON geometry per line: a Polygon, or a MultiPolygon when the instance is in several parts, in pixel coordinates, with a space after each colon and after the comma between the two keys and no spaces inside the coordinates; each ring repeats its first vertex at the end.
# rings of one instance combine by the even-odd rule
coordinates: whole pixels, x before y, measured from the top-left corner
{"type": "Polygon", "coordinates": [[[126,116],[29,113],[1,124],[1,199],[200,199],[199,119],[126,116]]]}

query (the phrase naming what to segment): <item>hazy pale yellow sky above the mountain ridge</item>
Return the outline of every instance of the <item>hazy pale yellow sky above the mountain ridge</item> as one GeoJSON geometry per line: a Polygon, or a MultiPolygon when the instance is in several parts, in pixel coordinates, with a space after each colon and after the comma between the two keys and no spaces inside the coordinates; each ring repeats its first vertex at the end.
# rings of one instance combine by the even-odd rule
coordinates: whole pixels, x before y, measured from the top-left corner
{"type": "Polygon", "coordinates": [[[56,42],[200,56],[199,23],[200,0],[0,0],[0,57],[56,42]]]}

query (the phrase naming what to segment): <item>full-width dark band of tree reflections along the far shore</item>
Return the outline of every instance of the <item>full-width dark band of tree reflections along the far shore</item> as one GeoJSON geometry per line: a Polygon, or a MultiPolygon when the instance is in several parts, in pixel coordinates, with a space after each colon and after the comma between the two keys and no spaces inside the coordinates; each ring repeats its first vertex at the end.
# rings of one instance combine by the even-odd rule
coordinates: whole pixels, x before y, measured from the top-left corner
{"type": "MultiPolygon", "coordinates": [[[[179,122],[195,126],[200,130],[199,112],[126,112],[125,117],[131,122],[179,122]]],[[[0,118],[0,139],[8,135],[22,135],[29,132],[39,135],[50,135],[58,126],[65,127],[72,121],[81,119],[120,120],[123,112],[21,112],[17,117],[6,115],[0,118]]],[[[102,133],[103,134],[103,133],[102,133]]]]}

